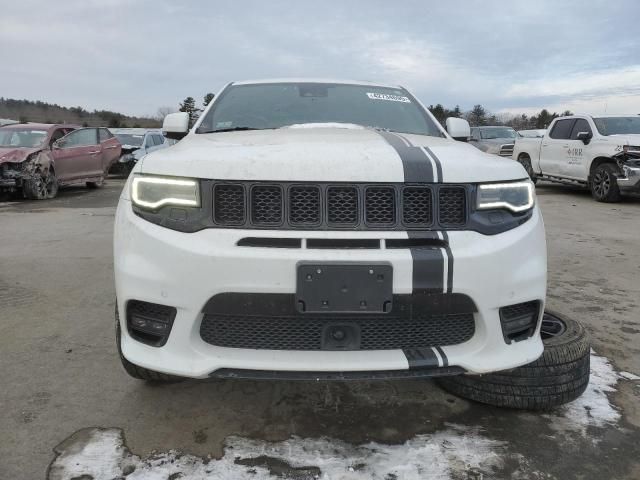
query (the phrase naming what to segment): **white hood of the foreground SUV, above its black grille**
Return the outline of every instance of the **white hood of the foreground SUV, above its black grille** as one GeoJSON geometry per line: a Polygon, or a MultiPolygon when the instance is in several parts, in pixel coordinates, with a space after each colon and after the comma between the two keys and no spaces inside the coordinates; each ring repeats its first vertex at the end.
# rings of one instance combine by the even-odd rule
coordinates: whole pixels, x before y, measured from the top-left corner
{"type": "MultiPolygon", "coordinates": [[[[405,178],[403,158],[385,137],[372,129],[335,126],[190,133],[172,148],[146,155],[141,172],[220,180],[428,181],[405,178]]],[[[422,147],[430,149],[442,166],[440,181],[471,183],[526,177],[519,163],[488,155],[467,143],[424,135],[401,137],[400,143],[407,147],[405,156],[421,158],[422,147]]]]}

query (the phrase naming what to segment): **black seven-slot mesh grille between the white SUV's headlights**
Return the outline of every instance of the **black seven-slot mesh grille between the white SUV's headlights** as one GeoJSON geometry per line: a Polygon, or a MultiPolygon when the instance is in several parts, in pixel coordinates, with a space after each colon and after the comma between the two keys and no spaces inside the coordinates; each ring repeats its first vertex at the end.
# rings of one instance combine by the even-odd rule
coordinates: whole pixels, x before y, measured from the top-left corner
{"type": "Polygon", "coordinates": [[[213,220],[226,228],[462,228],[467,188],[435,184],[217,182],[213,220]]]}

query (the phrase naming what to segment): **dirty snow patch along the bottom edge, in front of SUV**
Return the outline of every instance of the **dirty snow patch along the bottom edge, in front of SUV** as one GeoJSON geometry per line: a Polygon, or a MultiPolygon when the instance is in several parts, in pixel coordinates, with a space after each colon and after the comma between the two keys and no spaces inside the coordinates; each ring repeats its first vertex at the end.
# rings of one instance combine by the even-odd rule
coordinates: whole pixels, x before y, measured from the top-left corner
{"type": "MultiPolygon", "coordinates": [[[[181,474],[178,478],[182,480],[268,480],[289,478],[289,475],[298,478],[302,472],[316,472],[312,473],[315,478],[327,480],[449,480],[492,475],[508,456],[525,465],[521,455],[507,454],[505,442],[485,437],[479,428],[459,425],[447,425],[445,430],[432,435],[418,435],[402,445],[371,442],[354,446],[328,438],[298,437],[268,443],[229,437],[224,452],[219,460],[174,451],[141,459],[124,446],[121,430],[91,429],[89,435],[82,435],[78,442],[68,442],[58,452],[49,480],[68,480],[82,475],[90,475],[95,480],[123,475],[127,480],[165,480],[174,474],[181,474]],[[284,475],[270,472],[268,460],[261,460],[265,458],[286,462],[291,471],[284,475]],[[247,462],[247,459],[252,461],[247,462]]],[[[539,472],[521,473],[535,475],[539,472]]]]}

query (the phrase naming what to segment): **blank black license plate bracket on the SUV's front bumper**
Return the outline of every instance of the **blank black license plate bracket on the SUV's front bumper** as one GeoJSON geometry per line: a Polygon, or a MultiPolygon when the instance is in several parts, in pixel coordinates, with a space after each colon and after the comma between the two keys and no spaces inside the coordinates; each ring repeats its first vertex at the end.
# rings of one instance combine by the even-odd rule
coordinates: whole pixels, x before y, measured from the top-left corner
{"type": "Polygon", "coordinates": [[[392,290],[388,263],[302,263],[296,308],[302,313],[388,313],[392,290]]]}

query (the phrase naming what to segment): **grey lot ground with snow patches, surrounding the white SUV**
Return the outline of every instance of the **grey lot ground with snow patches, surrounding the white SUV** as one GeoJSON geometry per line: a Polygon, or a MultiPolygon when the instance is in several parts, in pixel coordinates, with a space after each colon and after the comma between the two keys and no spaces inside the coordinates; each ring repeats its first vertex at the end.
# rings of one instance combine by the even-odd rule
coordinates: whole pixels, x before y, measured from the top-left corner
{"type": "Polygon", "coordinates": [[[430,381],[129,378],[111,258],[123,183],[0,203],[1,479],[640,478],[640,200],[538,187],[548,306],[584,322],[594,353],[585,396],[534,414],[430,381]]]}

